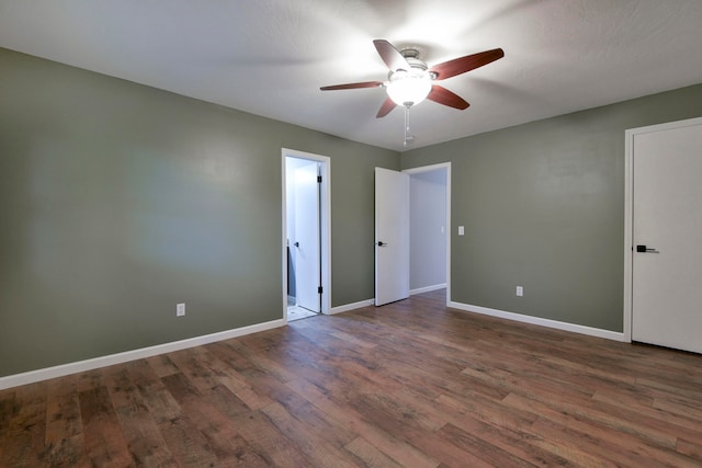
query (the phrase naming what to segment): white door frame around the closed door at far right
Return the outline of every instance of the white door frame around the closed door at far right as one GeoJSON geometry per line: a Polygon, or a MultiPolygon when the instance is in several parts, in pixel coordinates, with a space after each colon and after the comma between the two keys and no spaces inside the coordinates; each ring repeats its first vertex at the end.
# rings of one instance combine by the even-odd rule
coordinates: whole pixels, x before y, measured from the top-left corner
{"type": "Polygon", "coordinates": [[[625,130],[624,140],[624,341],[632,342],[633,307],[633,262],[634,262],[634,137],[652,132],[682,128],[691,125],[702,125],[702,117],[684,121],[667,122],[665,124],[625,130]]]}

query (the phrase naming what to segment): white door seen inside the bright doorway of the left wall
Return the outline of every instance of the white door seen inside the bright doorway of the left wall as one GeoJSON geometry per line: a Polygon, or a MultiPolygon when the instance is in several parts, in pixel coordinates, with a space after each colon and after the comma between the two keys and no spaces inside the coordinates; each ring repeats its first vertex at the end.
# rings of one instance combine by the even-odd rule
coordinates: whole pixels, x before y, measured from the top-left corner
{"type": "Polygon", "coordinates": [[[297,306],[319,312],[319,183],[318,163],[295,170],[295,285],[297,306]]]}

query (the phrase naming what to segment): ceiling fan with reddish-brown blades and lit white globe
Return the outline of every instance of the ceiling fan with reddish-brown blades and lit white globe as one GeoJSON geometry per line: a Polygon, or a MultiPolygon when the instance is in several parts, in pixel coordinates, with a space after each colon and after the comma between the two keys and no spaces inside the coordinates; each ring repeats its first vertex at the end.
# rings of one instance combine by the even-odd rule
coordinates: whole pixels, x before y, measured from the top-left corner
{"type": "Polygon", "coordinates": [[[466,71],[475,70],[491,61],[505,57],[501,48],[485,50],[444,61],[429,68],[419,58],[419,49],[407,47],[396,49],[385,39],[373,41],[381,58],[389,68],[387,81],[363,81],[359,83],[335,84],[321,87],[321,91],[351,90],[358,88],[386,88],[387,98],[381,105],[376,118],[385,117],[397,105],[409,109],[419,104],[424,99],[448,105],[450,107],[465,110],[468,104],[460,95],[448,89],[433,84],[433,81],[445,80],[466,71]]]}

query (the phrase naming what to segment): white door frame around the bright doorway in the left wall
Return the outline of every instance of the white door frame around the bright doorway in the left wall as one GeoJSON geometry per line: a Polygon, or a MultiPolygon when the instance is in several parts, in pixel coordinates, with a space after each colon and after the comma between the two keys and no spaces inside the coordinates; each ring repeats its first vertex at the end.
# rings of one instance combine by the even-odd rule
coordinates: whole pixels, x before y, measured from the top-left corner
{"type": "Polygon", "coordinates": [[[283,319],[287,322],[287,178],[285,159],[287,157],[319,162],[321,172],[319,226],[321,230],[321,313],[331,310],[331,158],[295,149],[281,149],[282,175],[282,225],[281,266],[282,266],[282,308],[283,319]]]}

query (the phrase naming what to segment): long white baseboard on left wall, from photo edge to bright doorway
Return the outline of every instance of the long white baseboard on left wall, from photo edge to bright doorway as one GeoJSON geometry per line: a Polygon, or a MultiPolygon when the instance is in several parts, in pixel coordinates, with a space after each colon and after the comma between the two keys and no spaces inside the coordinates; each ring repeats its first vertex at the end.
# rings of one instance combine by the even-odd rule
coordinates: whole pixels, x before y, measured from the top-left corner
{"type": "Polygon", "coordinates": [[[157,344],[155,346],[141,347],[139,350],[125,351],[123,353],[110,354],[106,356],[94,357],[92,359],[78,361],[75,363],[61,364],[59,366],[46,367],[27,373],[9,375],[0,377],[0,390],[21,385],[34,384],[41,380],[63,377],[70,374],[92,370],[100,367],[122,364],[129,361],[143,359],[145,357],[156,356],[158,354],[171,353],[173,351],[185,350],[188,347],[202,346],[203,344],[214,343],[216,341],[229,340],[233,338],[244,336],[250,333],[271,330],[285,326],[284,319],[272,320],[270,322],[257,323],[253,326],[241,327],[234,330],[220,331],[217,333],[205,334],[202,336],[189,338],[186,340],[173,341],[170,343],[157,344]]]}

